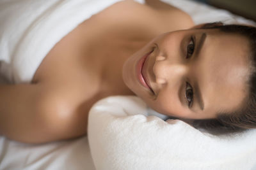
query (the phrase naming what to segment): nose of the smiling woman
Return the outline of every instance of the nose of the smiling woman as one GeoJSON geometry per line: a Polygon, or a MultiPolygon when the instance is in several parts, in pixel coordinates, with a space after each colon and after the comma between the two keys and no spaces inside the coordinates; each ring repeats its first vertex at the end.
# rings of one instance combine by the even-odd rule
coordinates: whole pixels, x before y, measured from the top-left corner
{"type": "Polygon", "coordinates": [[[170,60],[164,56],[157,56],[156,62],[153,66],[153,72],[156,76],[156,83],[164,84],[168,81],[175,82],[177,79],[182,78],[188,71],[186,64],[170,60]]]}

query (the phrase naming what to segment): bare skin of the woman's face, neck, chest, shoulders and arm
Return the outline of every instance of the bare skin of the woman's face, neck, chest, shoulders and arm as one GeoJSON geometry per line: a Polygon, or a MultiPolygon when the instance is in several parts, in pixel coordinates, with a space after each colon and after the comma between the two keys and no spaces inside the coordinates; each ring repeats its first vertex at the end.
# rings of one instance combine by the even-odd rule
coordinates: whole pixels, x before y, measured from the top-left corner
{"type": "MultiPolygon", "coordinates": [[[[224,41],[233,36],[206,31],[207,39],[202,48],[203,54],[200,55],[219,52],[217,60],[211,64],[211,56],[205,59],[201,56],[198,60],[187,62],[182,57],[186,53],[190,34],[195,31],[177,30],[194,26],[189,15],[160,1],[148,0],[146,3],[143,5],[129,0],[121,1],[93,15],[52,48],[30,84],[1,85],[0,133],[10,139],[28,143],[44,143],[84,135],[88,111],[92,105],[103,97],[113,95],[136,94],[150,107],[166,115],[200,118],[196,115],[197,112],[203,115],[209,111],[211,114],[208,117],[214,117],[218,103],[215,108],[213,104],[219,101],[217,97],[221,97],[220,94],[225,92],[232,82],[233,85],[238,82],[228,93],[234,94],[235,90],[235,101],[228,104],[228,107],[225,108],[224,104],[221,108],[230,110],[238,106],[246,94],[244,83],[239,83],[244,82],[243,76],[248,67],[246,58],[242,57],[247,52],[246,39],[234,37],[234,42],[243,42],[243,45],[237,45],[237,50],[234,51],[234,62],[227,68],[221,67],[220,73],[214,74],[214,67],[219,67],[218,64],[223,62],[221,59],[225,59],[223,56],[230,51],[221,53],[222,50],[216,51],[214,45],[219,45],[220,39],[224,41]],[[163,34],[164,32],[170,33],[163,34]],[[214,34],[217,35],[216,38],[214,34]],[[152,39],[154,40],[151,41],[152,39]],[[178,43],[174,43],[175,41],[178,43]],[[138,83],[134,71],[131,71],[144,52],[156,47],[153,42],[158,48],[155,48],[148,59],[147,74],[150,85],[156,92],[154,95],[138,83]],[[207,45],[211,48],[206,48],[207,45]],[[172,63],[173,66],[183,64],[184,67],[178,69],[180,71],[173,77],[170,73],[174,67],[168,69],[172,63]],[[243,70],[244,74],[236,76],[237,72],[234,71],[223,75],[236,68],[243,70]],[[211,76],[203,74],[202,71],[208,71],[211,76]],[[177,88],[183,82],[180,80],[182,75],[191,79],[191,85],[193,82],[200,82],[204,111],[198,109],[196,101],[193,103],[193,111],[188,109],[184,87],[183,94],[180,93],[182,99],[177,96],[177,88]],[[230,75],[230,81],[224,83],[225,89],[221,89],[220,83],[212,83],[211,90],[207,90],[207,85],[215,82],[216,78],[225,81],[223,78],[230,75]],[[200,80],[197,80],[198,78],[200,80]],[[214,94],[213,90],[217,90],[217,94],[214,94]],[[215,98],[211,98],[212,96],[215,98]]],[[[196,36],[200,36],[202,31],[198,32],[196,36]]],[[[225,59],[225,62],[230,62],[230,58],[225,59]]],[[[223,101],[226,99],[232,97],[228,96],[223,101]]]]}

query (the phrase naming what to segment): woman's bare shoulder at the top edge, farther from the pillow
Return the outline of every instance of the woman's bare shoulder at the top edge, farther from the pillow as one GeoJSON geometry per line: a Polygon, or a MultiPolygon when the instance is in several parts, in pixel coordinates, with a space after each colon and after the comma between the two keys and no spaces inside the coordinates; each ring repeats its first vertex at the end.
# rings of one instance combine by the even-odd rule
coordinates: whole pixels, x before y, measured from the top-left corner
{"type": "Polygon", "coordinates": [[[152,37],[194,26],[188,13],[175,6],[158,0],[146,0],[145,2],[145,4],[140,4],[132,0],[120,1],[97,16],[108,20],[108,25],[118,25],[120,28],[124,28],[125,25],[130,28],[136,27],[137,31],[143,29],[143,34],[148,32],[152,37]]]}

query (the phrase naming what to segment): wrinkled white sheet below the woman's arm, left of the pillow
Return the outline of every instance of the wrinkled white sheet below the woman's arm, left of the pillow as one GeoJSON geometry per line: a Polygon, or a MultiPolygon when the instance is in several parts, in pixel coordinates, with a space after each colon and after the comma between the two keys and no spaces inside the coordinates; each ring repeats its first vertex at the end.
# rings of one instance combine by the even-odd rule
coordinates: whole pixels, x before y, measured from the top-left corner
{"type": "Polygon", "coordinates": [[[86,137],[28,145],[0,137],[0,169],[94,170],[86,137]]]}

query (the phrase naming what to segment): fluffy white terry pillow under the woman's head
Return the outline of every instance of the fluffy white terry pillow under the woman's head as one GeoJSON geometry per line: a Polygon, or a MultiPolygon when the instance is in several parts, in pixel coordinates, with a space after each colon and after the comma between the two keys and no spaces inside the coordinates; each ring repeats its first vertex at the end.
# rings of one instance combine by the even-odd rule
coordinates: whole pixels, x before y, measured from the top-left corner
{"type": "Polygon", "coordinates": [[[148,116],[135,96],[108,97],[90,110],[88,139],[96,169],[252,169],[256,130],[212,136],[181,120],[148,116]]]}

